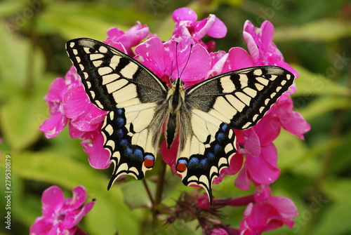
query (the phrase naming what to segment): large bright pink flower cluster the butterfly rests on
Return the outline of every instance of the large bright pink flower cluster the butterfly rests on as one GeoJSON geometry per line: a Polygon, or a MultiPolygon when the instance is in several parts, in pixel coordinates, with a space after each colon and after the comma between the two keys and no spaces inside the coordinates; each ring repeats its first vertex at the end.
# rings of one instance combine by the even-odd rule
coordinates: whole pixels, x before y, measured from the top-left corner
{"type": "MultiPolygon", "coordinates": [[[[110,29],[104,42],[141,62],[168,85],[171,80],[181,77],[185,86],[192,86],[211,76],[256,65],[277,65],[298,76],[284,62],[282,53],[272,43],[274,27],[268,21],[263,22],[259,28],[250,21],[245,22],[243,36],[249,52],[239,47],[225,52],[215,51],[214,41],[202,41],[205,35],[222,38],[227,33],[227,27],[216,15],[197,21],[196,13],[190,8],[179,8],[173,12],[173,20],[176,28],[168,41],[161,41],[149,32],[147,25],[138,22],[126,32],[117,28],[110,29]]],[[[251,182],[259,189],[265,189],[265,185],[277,180],[280,170],[277,167],[277,149],[273,140],[281,128],[301,139],[303,133],[310,129],[303,117],[293,111],[289,94],[295,90],[293,85],[253,128],[234,130],[237,135],[237,153],[232,157],[230,167],[222,170],[214,183],[220,182],[225,175],[238,174],[234,185],[245,190],[249,189],[251,182]]],[[[45,100],[50,107],[51,117],[40,126],[44,135],[48,138],[55,137],[68,124],[69,135],[82,140],[81,145],[88,153],[91,166],[110,166],[109,154],[102,147],[103,137],[100,133],[106,112],[88,100],[74,67],[69,69],[65,79],[60,77],[53,81],[45,100]]],[[[162,157],[174,172],[176,149],[176,142],[171,149],[166,149],[164,143],[161,146],[162,157]]],[[[282,224],[291,227],[291,218],[296,216],[296,208],[289,201],[289,209],[293,212],[284,217],[282,208],[286,200],[288,199],[269,195],[252,201],[246,208],[240,225],[242,234],[258,234],[258,231],[267,231],[282,224]],[[254,220],[260,210],[270,210],[267,216],[275,216],[274,224],[272,220],[267,220],[266,224],[260,224],[262,226],[257,229],[254,220]]]]}

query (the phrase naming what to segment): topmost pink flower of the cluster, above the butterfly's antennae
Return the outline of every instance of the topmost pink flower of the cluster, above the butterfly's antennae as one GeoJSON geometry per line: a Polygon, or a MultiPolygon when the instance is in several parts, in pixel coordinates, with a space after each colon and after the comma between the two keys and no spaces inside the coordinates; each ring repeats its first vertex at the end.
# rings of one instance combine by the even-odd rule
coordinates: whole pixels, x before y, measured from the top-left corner
{"type": "Polygon", "coordinates": [[[190,8],[178,8],[173,11],[173,21],[176,22],[173,36],[189,36],[197,43],[201,43],[208,51],[213,51],[215,43],[209,41],[204,43],[201,39],[207,34],[216,39],[223,38],[227,34],[227,27],[216,15],[210,14],[208,18],[196,21],[197,14],[190,8]]]}

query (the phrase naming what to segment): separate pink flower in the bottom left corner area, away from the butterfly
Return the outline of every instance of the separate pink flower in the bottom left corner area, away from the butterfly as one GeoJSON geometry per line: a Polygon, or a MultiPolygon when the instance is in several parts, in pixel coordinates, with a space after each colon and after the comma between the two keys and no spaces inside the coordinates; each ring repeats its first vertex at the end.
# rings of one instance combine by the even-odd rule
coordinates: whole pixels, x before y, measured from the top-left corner
{"type": "Polygon", "coordinates": [[[77,224],[93,208],[95,201],[86,203],[86,189],[75,187],[73,198],[65,199],[60,187],[52,186],[41,196],[43,215],[30,227],[30,235],[74,234],[77,224]]]}

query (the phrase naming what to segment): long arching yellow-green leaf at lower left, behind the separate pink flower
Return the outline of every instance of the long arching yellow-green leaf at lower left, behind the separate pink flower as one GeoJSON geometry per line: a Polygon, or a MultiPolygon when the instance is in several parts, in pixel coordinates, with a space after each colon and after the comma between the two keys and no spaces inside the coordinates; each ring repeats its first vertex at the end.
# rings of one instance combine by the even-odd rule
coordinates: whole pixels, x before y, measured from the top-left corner
{"type": "MultiPolygon", "coordinates": [[[[107,191],[107,177],[88,166],[88,163],[47,152],[25,152],[18,155],[13,153],[11,156],[13,172],[27,180],[58,184],[68,190],[84,185],[88,198],[96,199],[96,203],[102,201],[114,211],[112,220],[119,234],[138,234],[138,213],[129,210],[124,204],[120,187],[112,187],[107,191]]],[[[99,227],[100,224],[91,226],[99,227]]]]}

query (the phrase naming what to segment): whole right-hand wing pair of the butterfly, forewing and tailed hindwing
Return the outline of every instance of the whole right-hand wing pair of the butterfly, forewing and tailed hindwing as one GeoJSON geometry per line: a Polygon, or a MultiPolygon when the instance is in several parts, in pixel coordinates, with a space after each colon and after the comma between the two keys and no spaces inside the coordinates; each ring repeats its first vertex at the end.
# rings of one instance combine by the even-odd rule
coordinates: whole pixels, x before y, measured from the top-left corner
{"type": "Polygon", "coordinates": [[[281,67],[250,67],[188,89],[185,100],[190,111],[181,117],[183,140],[177,160],[183,183],[204,187],[211,200],[213,179],[236,152],[232,128],[243,130],[258,123],[293,79],[281,67]]]}

